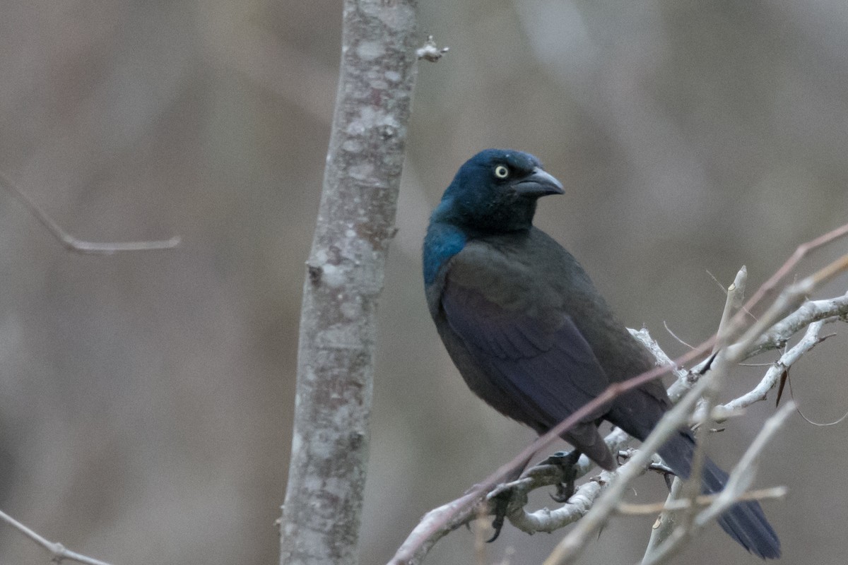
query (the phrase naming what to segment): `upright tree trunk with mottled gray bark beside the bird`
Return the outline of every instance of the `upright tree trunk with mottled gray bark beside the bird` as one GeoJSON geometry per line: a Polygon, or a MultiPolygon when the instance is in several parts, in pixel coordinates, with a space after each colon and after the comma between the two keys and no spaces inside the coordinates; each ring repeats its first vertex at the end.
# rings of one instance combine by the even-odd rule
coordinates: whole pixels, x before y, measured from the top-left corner
{"type": "Polygon", "coordinates": [[[357,562],[377,298],[395,230],[415,33],[415,0],[345,0],[336,109],[304,283],[282,565],[357,562]]]}

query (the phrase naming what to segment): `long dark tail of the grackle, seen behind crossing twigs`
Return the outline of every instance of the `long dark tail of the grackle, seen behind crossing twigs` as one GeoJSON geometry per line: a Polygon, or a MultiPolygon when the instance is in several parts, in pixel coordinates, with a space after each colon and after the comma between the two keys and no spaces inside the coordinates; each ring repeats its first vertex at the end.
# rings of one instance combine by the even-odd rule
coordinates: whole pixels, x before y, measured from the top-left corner
{"type": "MultiPolygon", "coordinates": [[[[667,441],[660,449],[663,461],[675,474],[683,479],[689,477],[695,440],[688,433],[681,432],[667,441]]],[[[709,458],[701,473],[701,490],[705,494],[721,492],[728,482],[728,474],[722,471],[709,458]]],[[[756,557],[776,559],[780,557],[780,540],[768,523],[757,501],[737,502],[718,517],[718,524],[739,545],[745,547],[756,557]]]]}

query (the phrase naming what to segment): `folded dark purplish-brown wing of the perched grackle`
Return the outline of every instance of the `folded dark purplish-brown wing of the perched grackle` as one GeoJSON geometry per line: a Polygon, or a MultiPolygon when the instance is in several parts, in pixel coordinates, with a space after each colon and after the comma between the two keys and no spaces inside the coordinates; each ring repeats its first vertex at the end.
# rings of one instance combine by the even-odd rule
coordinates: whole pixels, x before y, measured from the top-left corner
{"type": "Polygon", "coordinates": [[[538,279],[533,265],[512,259],[466,247],[451,262],[441,304],[450,329],[490,384],[520,404],[526,418],[517,419],[550,429],[610,382],[563,312],[562,296],[538,279]]]}

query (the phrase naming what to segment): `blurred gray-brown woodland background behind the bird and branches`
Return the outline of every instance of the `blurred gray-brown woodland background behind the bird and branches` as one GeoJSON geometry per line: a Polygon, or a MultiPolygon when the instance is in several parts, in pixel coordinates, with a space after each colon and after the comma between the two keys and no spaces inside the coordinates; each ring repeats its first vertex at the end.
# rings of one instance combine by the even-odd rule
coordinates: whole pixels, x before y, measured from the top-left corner
{"type": "MultiPolygon", "coordinates": [[[[424,301],[427,216],[484,147],[566,186],[538,225],[632,327],[680,354],[802,241],[848,218],[848,3],[422,2],[422,64],[380,312],[361,562],[533,434],[466,390],[424,301]],[[715,277],[715,280],[713,280],[715,277]]],[[[72,234],[176,251],[65,252],[0,193],[0,508],[115,563],[274,563],[298,308],[338,71],[341,2],[0,2],[0,169],[72,234]]],[[[809,272],[845,241],[802,263],[809,272]]],[[[845,292],[843,276],[820,296],[845,292]]],[[[844,326],[792,369],[809,418],[848,409],[844,326]]],[[[775,354],[765,355],[771,361],[775,354]]],[[[740,368],[726,397],[764,368],[740,368]]],[[[711,442],[729,467],[774,395],[711,442]]],[[[785,563],[848,553],[848,423],[791,418],[756,485],[785,563]]],[[[645,476],[632,501],[660,501],[645,476]]],[[[553,506],[545,492],[534,499],[553,506]]],[[[583,563],[638,561],[613,518],[583,563]]],[[[488,562],[561,534],[505,528],[488,562]]],[[[428,562],[473,562],[456,531],[428,562]]],[[[0,563],[43,562],[0,527],[0,563]]],[[[754,562],[717,527],[678,562],[754,562]],[[747,561],[746,561],[747,560],[747,561]]]]}

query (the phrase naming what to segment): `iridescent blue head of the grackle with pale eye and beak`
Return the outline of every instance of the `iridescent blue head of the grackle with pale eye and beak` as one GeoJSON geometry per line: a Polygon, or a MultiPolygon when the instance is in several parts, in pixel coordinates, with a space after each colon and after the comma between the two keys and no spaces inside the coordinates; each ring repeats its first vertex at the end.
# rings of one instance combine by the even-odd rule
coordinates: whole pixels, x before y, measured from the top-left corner
{"type": "Polygon", "coordinates": [[[432,220],[481,233],[528,230],[538,198],[562,193],[533,155],[486,149],[460,167],[432,220]]]}

